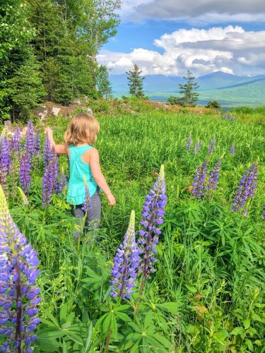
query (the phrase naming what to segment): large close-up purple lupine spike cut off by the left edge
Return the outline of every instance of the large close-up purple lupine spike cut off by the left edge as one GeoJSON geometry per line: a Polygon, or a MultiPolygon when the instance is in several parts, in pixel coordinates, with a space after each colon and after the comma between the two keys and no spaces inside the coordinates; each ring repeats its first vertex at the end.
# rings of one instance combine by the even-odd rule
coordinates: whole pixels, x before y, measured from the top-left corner
{"type": "Polygon", "coordinates": [[[33,352],[40,319],[37,252],[13,222],[0,186],[0,352],[33,352]]]}

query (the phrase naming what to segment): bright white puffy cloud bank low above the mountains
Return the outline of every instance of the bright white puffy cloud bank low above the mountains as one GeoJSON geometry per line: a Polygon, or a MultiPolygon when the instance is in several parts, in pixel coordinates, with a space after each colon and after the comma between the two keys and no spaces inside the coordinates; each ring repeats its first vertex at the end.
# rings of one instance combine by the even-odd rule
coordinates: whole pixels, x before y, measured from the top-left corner
{"type": "Polygon", "coordinates": [[[124,73],[136,63],[144,74],[182,75],[187,69],[196,75],[223,71],[255,74],[265,67],[265,30],[245,31],[240,26],[177,30],[154,41],[162,54],[143,48],[130,53],[102,51],[98,61],[124,73]]]}

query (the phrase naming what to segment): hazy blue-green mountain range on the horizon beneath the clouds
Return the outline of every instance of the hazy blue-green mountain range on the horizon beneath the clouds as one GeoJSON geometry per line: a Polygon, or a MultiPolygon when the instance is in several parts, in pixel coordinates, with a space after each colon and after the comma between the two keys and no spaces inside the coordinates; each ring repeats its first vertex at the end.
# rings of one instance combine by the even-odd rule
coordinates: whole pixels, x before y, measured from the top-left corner
{"type": "MultiPolygon", "coordinates": [[[[182,77],[147,75],[143,88],[151,100],[165,101],[170,95],[179,94],[182,77]]],[[[114,97],[129,95],[126,75],[111,75],[112,94],[114,97]]],[[[218,100],[223,107],[237,105],[265,105],[265,75],[254,77],[236,76],[217,71],[196,78],[199,84],[199,104],[209,100],[218,100]]]]}

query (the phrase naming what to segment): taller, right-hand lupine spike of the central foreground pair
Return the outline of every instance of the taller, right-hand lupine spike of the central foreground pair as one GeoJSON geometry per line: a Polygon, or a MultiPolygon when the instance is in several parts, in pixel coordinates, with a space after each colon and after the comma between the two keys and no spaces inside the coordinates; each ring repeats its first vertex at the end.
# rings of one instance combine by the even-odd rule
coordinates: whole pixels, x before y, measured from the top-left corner
{"type": "MultiPolygon", "coordinates": [[[[156,262],[155,253],[156,245],[158,244],[158,236],[161,230],[158,229],[162,225],[165,216],[165,205],[167,204],[167,196],[165,194],[165,172],[164,166],[160,168],[158,179],[155,181],[153,188],[146,196],[146,201],[143,206],[142,220],[140,224],[143,229],[139,230],[139,246],[142,255],[142,263],[140,271],[143,273],[143,281],[146,280],[149,273],[155,272],[153,263],[156,262]]],[[[143,291],[141,284],[140,292],[143,291]]]]}

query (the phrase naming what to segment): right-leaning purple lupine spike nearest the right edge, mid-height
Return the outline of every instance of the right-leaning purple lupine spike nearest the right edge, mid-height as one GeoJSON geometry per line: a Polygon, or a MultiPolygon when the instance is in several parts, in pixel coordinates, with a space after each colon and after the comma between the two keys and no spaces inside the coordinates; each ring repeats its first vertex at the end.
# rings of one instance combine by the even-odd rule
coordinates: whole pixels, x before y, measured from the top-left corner
{"type": "Polygon", "coordinates": [[[232,212],[240,212],[247,216],[247,202],[254,198],[254,192],[257,188],[257,179],[259,174],[259,167],[257,162],[247,169],[243,174],[240,184],[237,188],[237,193],[232,201],[232,212]]]}

